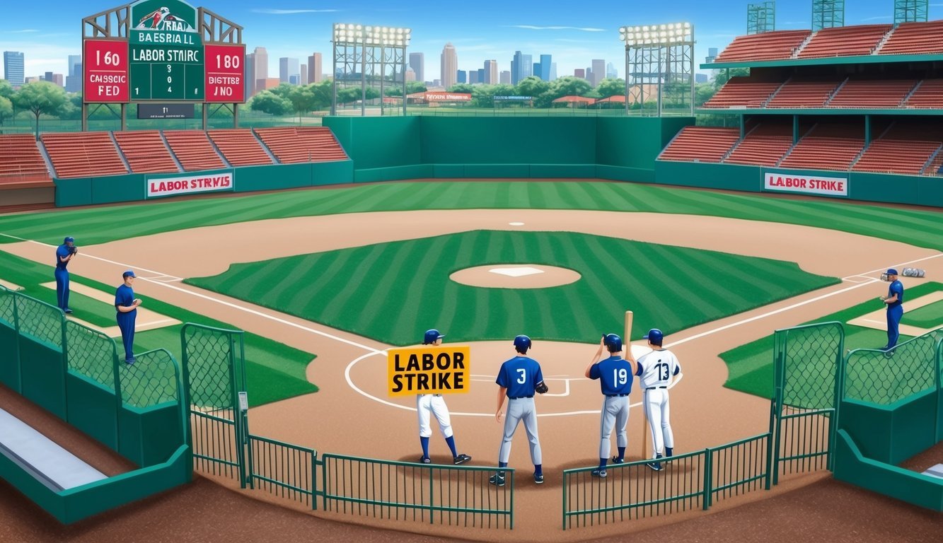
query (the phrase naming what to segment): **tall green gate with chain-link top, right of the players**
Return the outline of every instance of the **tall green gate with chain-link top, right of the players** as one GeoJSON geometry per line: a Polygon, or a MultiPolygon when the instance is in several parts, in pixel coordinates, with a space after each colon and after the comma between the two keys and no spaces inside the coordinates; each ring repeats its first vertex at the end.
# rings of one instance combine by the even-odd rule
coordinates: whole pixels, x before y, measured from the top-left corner
{"type": "Polygon", "coordinates": [[[778,484],[781,473],[832,468],[845,329],[819,322],[776,330],[775,338],[768,456],[778,484]]]}

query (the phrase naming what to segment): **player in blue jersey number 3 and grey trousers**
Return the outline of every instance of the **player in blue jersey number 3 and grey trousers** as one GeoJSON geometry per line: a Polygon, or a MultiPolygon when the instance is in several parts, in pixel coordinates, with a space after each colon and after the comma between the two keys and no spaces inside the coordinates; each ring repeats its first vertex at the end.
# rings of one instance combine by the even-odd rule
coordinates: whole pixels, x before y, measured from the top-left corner
{"type": "MultiPolygon", "coordinates": [[[[518,355],[505,361],[498,370],[498,377],[494,380],[498,384],[498,408],[494,418],[501,422],[505,416],[502,407],[507,397],[507,416],[505,418],[505,436],[501,441],[498,452],[498,467],[506,468],[511,457],[511,439],[518,429],[518,423],[524,421],[524,430],[530,440],[531,461],[534,462],[534,482],[543,484],[543,460],[540,453],[540,439],[537,435],[537,408],[534,405],[534,393],[547,392],[543,382],[543,373],[537,360],[524,356],[531,348],[530,337],[518,336],[514,338],[514,350],[518,355]]],[[[499,471],[488,479],[491,485],[504,486],[505,473],[499,471]]]]}

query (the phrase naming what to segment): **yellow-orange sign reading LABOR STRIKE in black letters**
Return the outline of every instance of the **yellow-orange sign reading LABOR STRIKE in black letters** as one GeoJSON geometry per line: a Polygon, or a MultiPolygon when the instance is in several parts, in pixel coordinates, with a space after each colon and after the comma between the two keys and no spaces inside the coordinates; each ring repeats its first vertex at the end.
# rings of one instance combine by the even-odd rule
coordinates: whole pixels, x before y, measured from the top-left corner
{"type": "Polygon", "coordinates": [[[469,347],[407,347],[387,351],[389,396],[468,392],[469,347]]]}

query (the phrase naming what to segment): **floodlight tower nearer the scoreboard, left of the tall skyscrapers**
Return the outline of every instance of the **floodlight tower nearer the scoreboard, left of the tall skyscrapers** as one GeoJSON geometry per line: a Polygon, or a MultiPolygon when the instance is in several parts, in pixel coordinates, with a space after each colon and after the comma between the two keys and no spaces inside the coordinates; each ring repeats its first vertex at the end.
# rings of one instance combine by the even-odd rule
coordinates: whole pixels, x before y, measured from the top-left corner
{"type": "Polygon", "coordinates": [[[380,115],[387,78],[403,83],[403,114],[406,113],[406,47],[411,38],[409,28],[366,26],[337,23],[331,42],[334,49],[334,83],[331,115],[337,115],[338,84],[360,87],[360,115],[367,114],[367,88],[379,83],[380,115]]]}

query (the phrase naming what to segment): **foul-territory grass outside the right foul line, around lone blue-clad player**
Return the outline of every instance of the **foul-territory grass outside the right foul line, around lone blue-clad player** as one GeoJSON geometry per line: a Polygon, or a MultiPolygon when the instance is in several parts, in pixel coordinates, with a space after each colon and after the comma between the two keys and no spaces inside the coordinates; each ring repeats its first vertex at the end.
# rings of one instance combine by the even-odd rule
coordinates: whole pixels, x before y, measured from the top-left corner
{"type": "MultiPolygon", "coordinates": [[[[917,287],[907,288],[905,294],[907,298],[913,300],[918,296],[943,290],[943,284],[927,283],[917,287]]],[[[886,330],[877,330],[874,328],[865,328],[862,326],[853,326],[848,321],[856,319],[880,309],[880,302],[869,300],[862,304],[853,305],[847,309],[842,309],[831,315],[825,315],[813,322],[838,321],[845,327],[845,349],[877,349],[887,344],[886,330]]],[[[940,303],[937,303],[940,304],[940,303]]],[[[936,304],[933,304],[936,305],[936,304]]],[[[931,307],[927,305],[926,307],[931,307]]],[[[904,303],[906,309],[906,303],[904,303]]],[[[914,313],[919,311],[915,310],[914,313]]],[[[906,318],[907,313],[904,313],[906,318]]],[[[943,315],[937,314],[935,321],[928,321],[929,325],[925,328],[934,328],[943,324],[943,315]]],[[[721,353],[720,358],[727,364],[728,377],[724,387],[733,388],[741,392],[760,396],[762,398],[772,398],[773,394],[773,335],[757,339],[746,343],[726,353],[721,353]]],[[[899,343],[909,339],[909,336],[901,336],[899,343]]]]}

